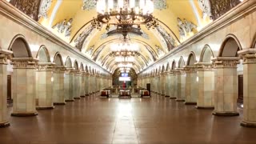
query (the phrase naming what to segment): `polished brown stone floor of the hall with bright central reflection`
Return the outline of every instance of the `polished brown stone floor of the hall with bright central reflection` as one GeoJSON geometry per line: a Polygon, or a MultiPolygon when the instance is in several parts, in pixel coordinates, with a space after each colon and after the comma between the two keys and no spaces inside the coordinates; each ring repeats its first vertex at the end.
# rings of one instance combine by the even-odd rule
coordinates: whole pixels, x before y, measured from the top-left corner
{"type": "MultiPolygon", "coordinates": [[[[86,97],[38,116],[10,117],[0,143],[256,143],[256,129],[238,117],[216,117],[169,98],[86,97]]],[[[9,108],[9,113],[11,108],[9,108]]]]}

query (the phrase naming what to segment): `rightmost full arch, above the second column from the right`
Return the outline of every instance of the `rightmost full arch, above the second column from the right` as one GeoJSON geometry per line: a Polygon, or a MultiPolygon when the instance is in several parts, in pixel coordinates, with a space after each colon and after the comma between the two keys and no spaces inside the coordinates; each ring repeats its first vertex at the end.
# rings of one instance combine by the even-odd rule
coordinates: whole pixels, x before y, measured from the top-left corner
{"type": "Polygon", "coordinates": [[[234,34],[228,34],[222,42],[218,57],[238,57],[238,50],[242,50],[238,38],[234,34]]]}

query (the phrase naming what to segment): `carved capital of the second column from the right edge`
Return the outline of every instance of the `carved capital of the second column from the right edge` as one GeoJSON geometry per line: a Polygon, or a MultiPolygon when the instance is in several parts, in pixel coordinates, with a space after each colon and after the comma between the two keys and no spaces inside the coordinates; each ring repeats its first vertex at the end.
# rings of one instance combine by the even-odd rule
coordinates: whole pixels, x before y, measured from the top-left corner
{"type": "Polygon", "coordinates": [[[237,67],[240,57],[217,57],[212,58],[212,61],[214,62],[214,68],[223,68],[223,67],[230,67],[234,68],[237,67]]]}

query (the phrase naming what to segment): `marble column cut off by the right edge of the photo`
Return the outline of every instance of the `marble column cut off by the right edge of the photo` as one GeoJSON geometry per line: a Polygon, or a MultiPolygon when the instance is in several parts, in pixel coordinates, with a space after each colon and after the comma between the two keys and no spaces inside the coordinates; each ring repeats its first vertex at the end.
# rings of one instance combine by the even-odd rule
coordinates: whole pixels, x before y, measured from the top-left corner
{"type": "Polygon", "coordinates": [[[241,126],[256,127],[256,50],[238,51],[243,58],[243,117],[241,126]]]}

